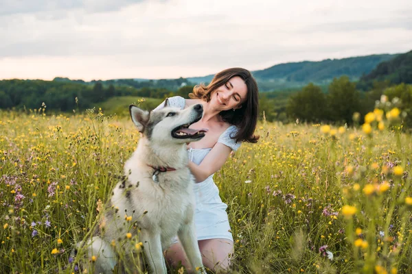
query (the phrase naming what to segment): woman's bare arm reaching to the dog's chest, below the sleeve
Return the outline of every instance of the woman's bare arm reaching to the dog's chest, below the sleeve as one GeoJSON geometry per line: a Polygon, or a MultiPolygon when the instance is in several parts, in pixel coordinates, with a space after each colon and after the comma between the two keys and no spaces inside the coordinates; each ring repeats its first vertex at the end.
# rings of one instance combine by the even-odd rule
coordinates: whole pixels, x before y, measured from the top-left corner
{"type": "Polygon", "coordinates": [[[192,171],[196,182],[200,183],[205,181],[207,177],[221,169],[231,151],[232,149],[230,147],[216,142],[216,145],[207,153],[201,164],[197,165],[189,161],[189,169],[192,171]]]}

